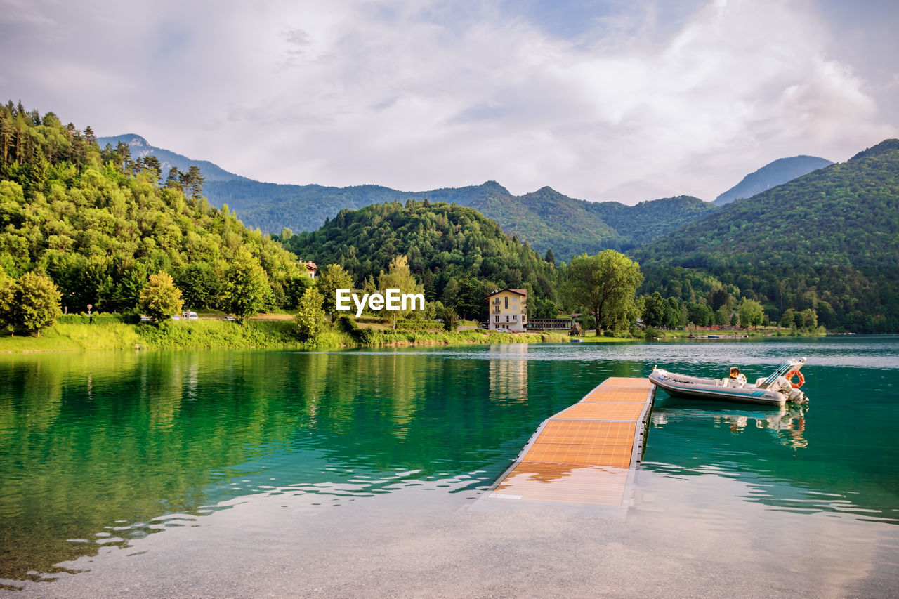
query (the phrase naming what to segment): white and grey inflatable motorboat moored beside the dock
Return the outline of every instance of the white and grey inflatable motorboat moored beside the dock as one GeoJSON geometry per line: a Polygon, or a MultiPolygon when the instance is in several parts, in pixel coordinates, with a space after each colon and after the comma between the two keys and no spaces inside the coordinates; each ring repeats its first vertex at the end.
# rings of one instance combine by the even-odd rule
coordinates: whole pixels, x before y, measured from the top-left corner
{"type": "Polygon", "coordinates": [[[783,406],[788,401],[806,401],[806,395],[799,390],[806,382],[799,371],[805,363],[805,358],[784,362],[778,370],[756,380],[754,384],[747,382],[746,376],[738,368],[731,368],[730,376],[724,379],[701,379],[654,368],[649,380],[669,395],[783,406]],[[798,381],[793,382],[794,378],[798,381]]]}

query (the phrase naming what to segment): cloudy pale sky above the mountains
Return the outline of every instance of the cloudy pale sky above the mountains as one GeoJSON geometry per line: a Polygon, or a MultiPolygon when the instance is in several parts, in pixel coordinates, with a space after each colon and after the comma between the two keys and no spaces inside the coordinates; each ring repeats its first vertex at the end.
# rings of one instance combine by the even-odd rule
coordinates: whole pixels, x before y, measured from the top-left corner
{"type": "Polygon", "coordinates": [[[714,200],[899,138],[895,0],[0,0],[0,99],[274,183],[714,200]]]}

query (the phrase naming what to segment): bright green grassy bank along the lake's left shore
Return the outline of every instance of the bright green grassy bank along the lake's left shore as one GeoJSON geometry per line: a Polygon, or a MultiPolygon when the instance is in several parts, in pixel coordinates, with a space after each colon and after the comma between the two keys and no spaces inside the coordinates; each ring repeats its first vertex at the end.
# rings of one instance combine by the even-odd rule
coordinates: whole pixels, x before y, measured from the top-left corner
{"type": "Polygon", "coordinates": [[[63,317],[39,336],[0,336],[0,352],[65,352],[124,349],[313,349],[344,347],[403,347],[408,345],[502,344],[564,342],[557,333],[507,334],[483,329],[449,333],[441,330],[372,330],[369,343],[360,344],[348,332],[332,329],[316,344],[301,344],[293,323],[285,319],[259,319],[240,325],[221,320],[168,321],[162,326],[132,325],[118,317],[63,317]]]}

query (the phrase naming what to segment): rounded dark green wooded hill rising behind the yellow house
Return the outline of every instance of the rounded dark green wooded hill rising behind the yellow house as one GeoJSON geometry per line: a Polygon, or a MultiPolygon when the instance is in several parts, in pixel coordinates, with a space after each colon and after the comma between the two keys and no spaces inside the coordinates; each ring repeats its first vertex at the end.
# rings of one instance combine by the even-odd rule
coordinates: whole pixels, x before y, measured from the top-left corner
{"type": "Polygon", "coordinates": [[[531,317],[556,317],[558,271],[476,210],[445,202],[397,201],[341,210],[317,231],[275,236],[303,260],[340,264],[358,287],[406,255],[425,299],[486,319],[487,293],[527,289],[531,317]]]}

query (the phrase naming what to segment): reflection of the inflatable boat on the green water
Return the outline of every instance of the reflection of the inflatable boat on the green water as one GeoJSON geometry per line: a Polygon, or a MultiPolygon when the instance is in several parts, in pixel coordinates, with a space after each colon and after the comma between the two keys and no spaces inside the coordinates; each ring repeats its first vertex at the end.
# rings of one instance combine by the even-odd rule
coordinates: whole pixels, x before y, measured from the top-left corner
{"type": "Polygon", "coordinates": [[[672,401],[663,407],[653,410],[652,425],[661,428],[673,422],[684,420],[708,420],[717,427],[726,427],[732,435],[743,433],[746,429],[764,429],[772,440],[796,449],[805,448],[808,442],[806,431],[806,405],[787,404],[785,406],[758,407],[747,410],[740,406],[736,409],[709,409],[707,403],[672,401]]]}

